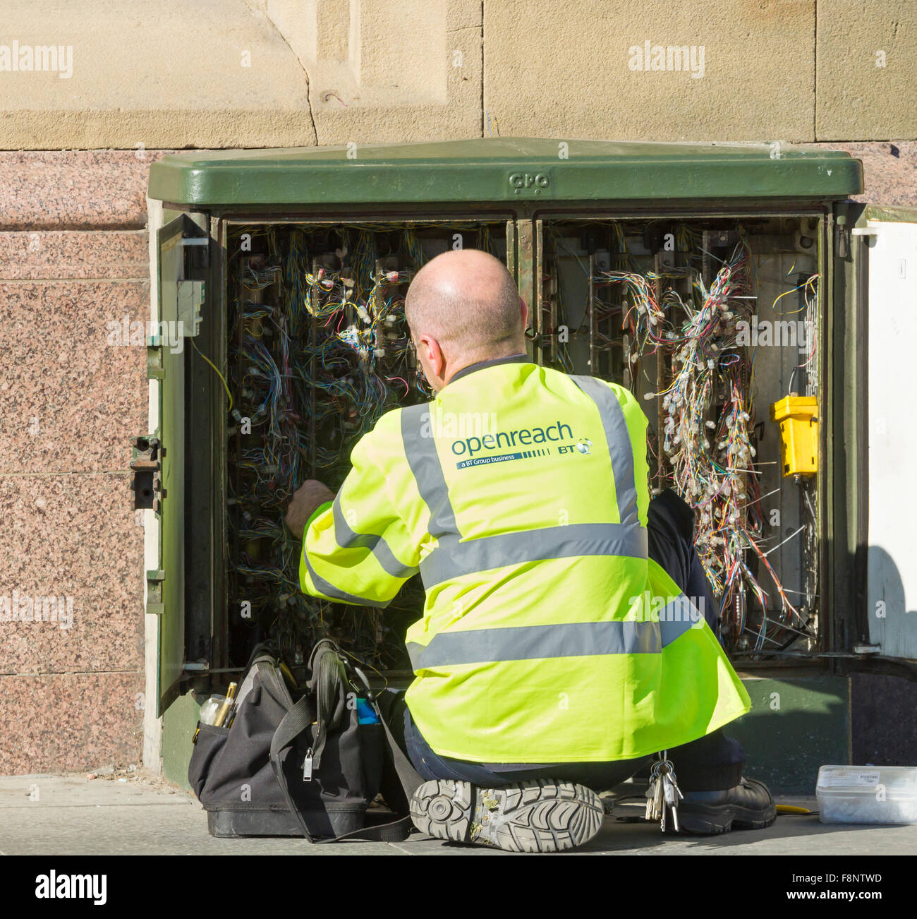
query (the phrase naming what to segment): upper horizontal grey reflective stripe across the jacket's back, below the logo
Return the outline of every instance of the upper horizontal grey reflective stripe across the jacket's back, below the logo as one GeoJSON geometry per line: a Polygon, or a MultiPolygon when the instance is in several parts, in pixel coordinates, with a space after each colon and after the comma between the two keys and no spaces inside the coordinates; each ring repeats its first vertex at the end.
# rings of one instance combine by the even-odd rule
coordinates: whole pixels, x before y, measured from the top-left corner
{"type": "Polygon", "coordinates": [[[569,559],[583,555],[647,557],[647,531],[639,525],[580,523],[545,527],[459,541],[445,537],[420,563],[424,586],[442,584],[463,574],[524,562],[569,559]]]}

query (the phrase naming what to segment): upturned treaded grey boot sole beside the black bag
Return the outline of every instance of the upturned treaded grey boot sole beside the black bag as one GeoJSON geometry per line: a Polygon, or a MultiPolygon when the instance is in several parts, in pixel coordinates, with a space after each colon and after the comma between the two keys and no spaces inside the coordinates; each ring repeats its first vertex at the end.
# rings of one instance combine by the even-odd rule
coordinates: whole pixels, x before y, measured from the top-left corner
{"type": "Polygon", "coordinates": [[[602,829],[605,809],[592,789],[546,779],[505,789],[470,782],[425,782],[411,801],[414,826],[455,843],[492,845],[506,852],[565,852],[602,829]]]}

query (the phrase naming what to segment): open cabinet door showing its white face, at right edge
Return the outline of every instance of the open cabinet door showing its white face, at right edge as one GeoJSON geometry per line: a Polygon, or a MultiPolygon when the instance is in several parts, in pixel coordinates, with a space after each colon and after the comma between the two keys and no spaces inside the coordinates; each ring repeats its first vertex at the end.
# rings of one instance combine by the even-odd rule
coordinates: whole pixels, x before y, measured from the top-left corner
{"type": "MultiPolygon", "coordinates": [[[[858,566],[860,577],[866,577],[866,615],[859,619],[864,643],[855,641],[851,650],[914,662],[917,412],[911,374],[917,362],[917,210],[862,208],[850,245],[859,296],[866,300],[866,342],[860,344],[866,361],[866,475],[860,482],[866,484],[867,501],[860,552],[865,558],[858,566]]],[[[862,380],[864,374],[858,375],[862,380]]]]}

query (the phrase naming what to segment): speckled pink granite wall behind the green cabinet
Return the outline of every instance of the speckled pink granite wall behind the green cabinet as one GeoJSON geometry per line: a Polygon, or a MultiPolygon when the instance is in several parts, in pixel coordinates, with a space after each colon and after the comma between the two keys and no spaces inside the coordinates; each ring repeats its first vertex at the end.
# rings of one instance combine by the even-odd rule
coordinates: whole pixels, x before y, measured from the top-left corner
{"type": "MultiPolygon", "coordinates": [[[[865,200],[917,206],[917,142],[823,145],[864,159],[865,200]]],[[[149,315],[145,187],[164,153],[142,155],[0,153],[0,774],[141,757],[128,463],[146,353],[109,346],[108,323],[149,315]],[[63,621],[34,621],[34,602],[13,621],[35,596],[64,597],[63,621]]]]}

